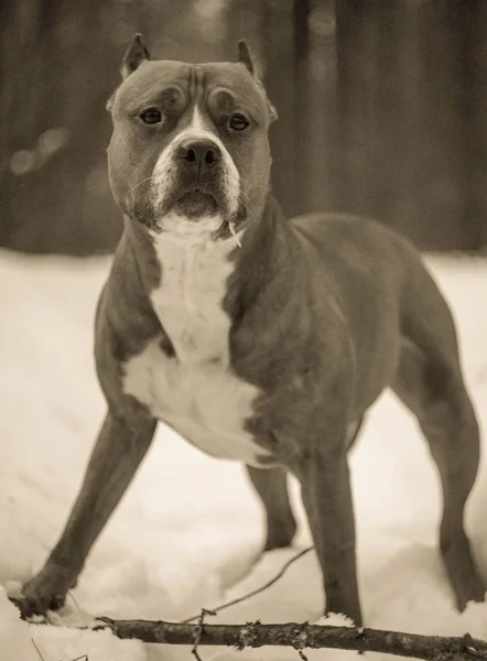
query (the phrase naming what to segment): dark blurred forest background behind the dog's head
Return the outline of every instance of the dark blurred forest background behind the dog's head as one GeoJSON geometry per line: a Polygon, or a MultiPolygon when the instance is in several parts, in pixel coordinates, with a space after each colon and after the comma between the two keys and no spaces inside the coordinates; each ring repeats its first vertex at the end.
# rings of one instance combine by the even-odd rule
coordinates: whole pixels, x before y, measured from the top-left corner
{"type": "Polygon", "coordinates": [[[428,250],[487,248],[487,0],[1,0],[0,245],[111,251],[107,98],[133,32],[154,57],[235,59],[280,119],[288,215],[375,216],[428,250]]]}

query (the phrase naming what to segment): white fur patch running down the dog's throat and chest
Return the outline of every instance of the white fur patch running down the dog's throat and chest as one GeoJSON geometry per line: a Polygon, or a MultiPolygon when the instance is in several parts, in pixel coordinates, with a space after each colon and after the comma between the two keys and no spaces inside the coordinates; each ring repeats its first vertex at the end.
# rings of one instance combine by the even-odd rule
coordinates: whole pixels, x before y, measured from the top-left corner
{"type": "MultiPolygon", "coordinates": [[[[215,225],[197,223],[202,230],[215,225]]],[[[214,241],[207,230],[196,240],[192,225],[188,235],[155,239],[163,275],[151,299],[176,357],[161,350],[160,338],[150,340],[126,364],[123,388],[201,449],[258,465],[257,455],[267,453],[244,430],[258,389],[229,370],[230,319],[221,308],[235,239],[214,241]]]]}

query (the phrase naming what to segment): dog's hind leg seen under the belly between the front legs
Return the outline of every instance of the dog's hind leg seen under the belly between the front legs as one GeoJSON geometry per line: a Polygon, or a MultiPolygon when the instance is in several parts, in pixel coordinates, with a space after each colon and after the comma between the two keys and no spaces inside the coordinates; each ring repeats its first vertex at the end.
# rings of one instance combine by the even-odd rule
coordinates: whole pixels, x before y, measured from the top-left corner
{"type": "Polygon", "coordinates": [[[296,532],[296,522],[289,500],[286,472],[253,466],[247,466],[247,472],[266,509],[264,551],[289,546],[296,532]]]}

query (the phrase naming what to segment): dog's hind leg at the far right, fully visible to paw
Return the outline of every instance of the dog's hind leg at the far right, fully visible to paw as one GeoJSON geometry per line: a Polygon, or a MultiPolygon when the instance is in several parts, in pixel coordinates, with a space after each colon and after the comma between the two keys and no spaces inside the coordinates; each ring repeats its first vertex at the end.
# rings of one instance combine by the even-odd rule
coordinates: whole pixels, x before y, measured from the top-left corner
{"type": "Polygon", "coordinates": [[[465,503],[478,469],[479,436],[456,346],[448,356],[442,356],[441,349],[439,340],[435,354],[426,355],[404,340],[392,388],[416,415],[440,472],[440,548],[456,605],[463,610],[469,600],[481,602],[485,594],[464,529],[465,503]]]}

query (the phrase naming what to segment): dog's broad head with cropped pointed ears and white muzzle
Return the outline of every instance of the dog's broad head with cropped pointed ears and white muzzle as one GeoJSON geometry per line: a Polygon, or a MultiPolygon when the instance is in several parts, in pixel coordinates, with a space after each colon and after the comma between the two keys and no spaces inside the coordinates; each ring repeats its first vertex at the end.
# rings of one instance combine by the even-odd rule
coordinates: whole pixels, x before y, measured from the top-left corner
{"type": "Polygon", "coordinates": [[[242,53],[237,63],[152,62],[136,37],[110,102],[108,149],[115,198],[133,220],[218,237],[259,216],[273,109],[242,53]]]}

